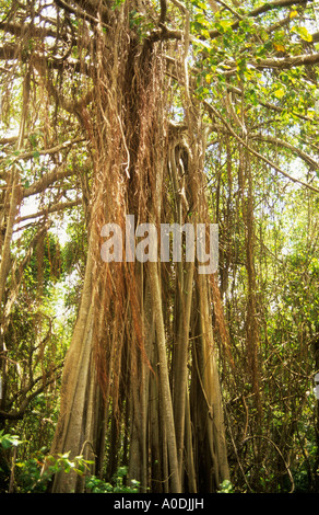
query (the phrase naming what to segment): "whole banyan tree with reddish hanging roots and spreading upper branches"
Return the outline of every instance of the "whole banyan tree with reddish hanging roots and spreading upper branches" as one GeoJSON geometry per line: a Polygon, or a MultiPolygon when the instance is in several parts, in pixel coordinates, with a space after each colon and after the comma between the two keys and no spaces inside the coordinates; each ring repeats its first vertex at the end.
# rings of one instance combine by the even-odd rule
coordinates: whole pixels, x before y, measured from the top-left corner
{"type": "MultiPolygon", "coordinates": [[[[305,2],[267,3],[249,16],[293,3],[305,2]]],[[[251,152],[236,119],[232,94],[240,98],[240,89],[229,85],[220,110],[201,94],[208,71],[199,56],[211,56],[208,39],[218,41],[226,25],[209,32],[198,16],[200,5],[179,0],[2,4],[3,119],[12,113],[14,91],[22,103],[16,134],[2,141],[10,158],[1,172],[2,350],[22,273],[10,253],[21,206],[37,196],[40,221],[29,250],[48,230],[51,214],[81,209],[85,273],[50,455],[83,456],[97,477],[105,467],[110,477],[126,464],[142,492],[215,492],[229,478],[220,354],[233,370],[217,274],[200,273],[198,254],[187,259],[185,233],[179,261],[161,260],[160,243],[155,253],[144,248],[143,260],[133,259],[128,245],[120,260],[103,260],[102,249],[108,224],[123,236],[129,222],[133,231],[152,224],[157,234],[164,224],[215,224],[205,169],[213,138],[228,134],[241,160],[249,152],[263,158],[251,152]],[[36,148],[29,146],[32,135],[36,148]],[[42,159],[45,172],[37,164],[26,183],[21,162],[42,159]]],[[[208,4],[208,20],[218,15],[220,4],[208,4]]],[[[227,9],[232,31],[243,20],[239,14],[233,20],[234,9],[227,9]]],[[[258,37],[262,34],[252,34],[258,37]]],[[[304,61],[316,62],[314,56],[304,61]]],[[[267,60],[259,66],[276,64],[267,60]]],[[[217,70],[223,84],[236,75],[233,68],[229,62],[217,70]]],[[[275,170],[281,172],[280,165],[275,170]]],[[[249,213],[248,197],[248,227],[249,213]]],[[[134,244],[147,241],[146,233],[135,236],[134,244]]],[[[259,391],[253,281],[251,264],[249,359],[259,391]]],[[[85,477],[59,472],[50,491],[84,492],[85,477]]]]}

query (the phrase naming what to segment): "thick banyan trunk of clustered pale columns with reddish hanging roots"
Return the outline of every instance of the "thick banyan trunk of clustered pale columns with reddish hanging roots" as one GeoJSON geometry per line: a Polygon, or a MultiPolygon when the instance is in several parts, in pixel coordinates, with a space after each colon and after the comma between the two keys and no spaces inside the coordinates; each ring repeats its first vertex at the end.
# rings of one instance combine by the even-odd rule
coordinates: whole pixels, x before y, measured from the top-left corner
{"type": "MultiPolygon", "coordinates": [[[[97,30],[96,99],[90,113],[83,107],[80,114],[94,169],[88,256],[51,451],[70,451],[71,457],[102,453],[101,427],[109,417],[122,421],[125,409],[129,440],[122,459],[129,464],[129,480],[140,481],[141,491],[196,492],[198,477],[211,477],[213,469],[215,481],[204,487],[214,491],[228,470],[206,278],[185,258],[162,264],[160,255],[157,262],[149,255],[140,263],[127,247],[121,262],[101,259],[102,227],[116,222],[125,232],[126,215],[134,216],[134,230],[141,222],[158,230],[162,222],[209,220],[200,108],[190,108],[186,95],[187,131],[170,124],[166,53],[175,50],[170,44],[141,42],[128,26],[129,8],[126,2],[115,11],[111,34],[97,30]],[[200,347],[191,354],[189,334],[198,309],[200,347]],[[198,369],[190,367],[193,356],[198,369]],[[202,388],[190,394],[189,385],[196,381],[202,388]],[[94,403],[99,391],[105,412],[97,412],[94,403]],[[205,453],[202,467],[198,460],[205,453]]],[[[184,47],[180,55],[185,62],[184,47]]],[[[111,433],[115,449],[121,431],[119,423],[111,433]]],[[[109,460],[109,471],[115,471],[118,454],[109,460]]],[[[96,462],[102,469],[99,456],[96,462]]],[[[75,476],[55,479],[55,492],[83,489],[75,476]]]]}

